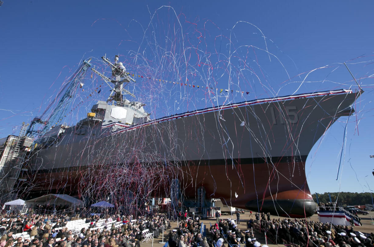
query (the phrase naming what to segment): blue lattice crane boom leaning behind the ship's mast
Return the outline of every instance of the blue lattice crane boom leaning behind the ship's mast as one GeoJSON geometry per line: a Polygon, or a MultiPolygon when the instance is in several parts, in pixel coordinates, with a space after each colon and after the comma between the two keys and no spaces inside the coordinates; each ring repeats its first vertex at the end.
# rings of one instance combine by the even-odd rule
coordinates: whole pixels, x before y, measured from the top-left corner
{"type": "Polygon", "coordinates": [[[70,106],[71,101],[74,98],[74,94],[76,92],[76,88],[82,82],[87,69],[91,66],[91,58],[88,60],[83,61],[80,67],[71,75],[67,85],[68,88],[65,91],[65,94],[61,97],[60,101],[56,105],[55,109],[53,109],[52,113],[50,114],[49,118],[46,120],[42,120],[43,115],[49,109],[49,107],[45,110],[41,117],[36,117],[31,121],[30,126],[26,131],[26,135],[35,138],[35,141],[42,137],[52,126],[58,125],[62,119],[64,118],[68,107],[70,106]],[[43,127],[40,130],[34,130],[35,124],[42,124],[43,127]]]}

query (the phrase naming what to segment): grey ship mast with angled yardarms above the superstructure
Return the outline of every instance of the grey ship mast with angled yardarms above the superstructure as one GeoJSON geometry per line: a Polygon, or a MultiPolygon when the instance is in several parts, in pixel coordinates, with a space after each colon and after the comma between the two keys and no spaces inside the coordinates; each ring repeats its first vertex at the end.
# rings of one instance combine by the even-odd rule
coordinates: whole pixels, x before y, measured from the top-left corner
{"type": "Polygon", "coordinates": [[[105,56],[101,57],[102,60],[104,60],[111,68],[112,70],[112,79],[108,78],[104,74],[98,72],[96,69],[91,68],[93,72],[98,74],[104,81],[108,84],[108,86],[111,88],[110,95],[107,99],[107,103],[111,101],[116,101],[116,105],[123,106],[124,100],[123,100],[123,94],[129,94],[131,97],[135,98],[135,95],[126,90],[123,87],[126,87],[126,85],[129,82],[136,82],[133,78],[131,78],[128,73],[126,72],[125,66],[121,62],[118,62],[118,55],[114,58],[114,64],[111,63],[108,58],[105,56]],[[114,87],[112,87],[108,82],[111,82],[114,84],[114,87]],[[125,85],[123,85],[126,83],[125,85]]]}

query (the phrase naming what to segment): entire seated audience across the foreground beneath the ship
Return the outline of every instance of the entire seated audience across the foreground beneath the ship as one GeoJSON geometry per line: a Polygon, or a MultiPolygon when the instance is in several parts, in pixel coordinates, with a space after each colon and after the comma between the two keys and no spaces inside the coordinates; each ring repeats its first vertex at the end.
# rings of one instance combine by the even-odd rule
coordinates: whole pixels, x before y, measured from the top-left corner
{"type": "Polygon", "coordinates": [[[0,216],[3,218],[0,222],[0,247],[140,247],[145,229],[154,238],[170,229],[170,247],[223,247],[224,244],[228,247],[260,247],[254,236],[258,233],[261,236],[266,234],[268,243],[292,247],[374,246],[374,234],[363,234],[348,226],[306,219],[271,219],[269,213],[255,213],[255,219],[250,219],[246,229],[242,230],[239,228],[240,214],[236,214],[236,222],[223,219],[217,213],[215,216],[217,221],[208,227],[199,217],[192,219],[187,213],[181,214],[177,227],[170,229],[171,222],[162,216],[116,214],[100,220],[94,215],[85,221],[89,227],[77,231],[67,227],[71,220],[68,214],[3,213],[0,216]],[[15,234],[25,232],[29,239],[15,237],[15,234]]]}

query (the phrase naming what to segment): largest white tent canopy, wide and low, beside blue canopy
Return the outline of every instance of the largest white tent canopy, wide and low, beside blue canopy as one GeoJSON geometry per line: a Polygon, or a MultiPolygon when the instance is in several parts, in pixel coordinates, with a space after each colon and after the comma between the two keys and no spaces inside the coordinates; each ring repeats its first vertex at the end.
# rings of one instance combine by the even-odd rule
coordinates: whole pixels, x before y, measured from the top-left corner
{"type": "Polygon", "coordinates": [[[31,200],[26,201],[28,206],[33,204],[63,204],[63,205],[70,205],[70,206],[80,206],[83,205],[83,202],[74,198],[73,196],[65,195],[65,194],[49,194],[45,196],[40,196],[38,198],[34,198],[31,200]]]}

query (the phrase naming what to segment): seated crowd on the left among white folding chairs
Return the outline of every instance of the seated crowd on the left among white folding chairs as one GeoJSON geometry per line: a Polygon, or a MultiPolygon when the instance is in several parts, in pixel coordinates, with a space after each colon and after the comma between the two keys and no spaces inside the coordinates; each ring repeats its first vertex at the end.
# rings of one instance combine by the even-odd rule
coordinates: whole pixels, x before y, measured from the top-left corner
{"type": "Polygon", "coordinates": [[[142,231],[148,229],[153,237],[171,227],[165,217],[99,216],[86,219],[89,227],[69,229],[66,214],[1,214],[0,247],[140,247],[142,231]],[[116,227],[115,223],[120,222],[116,227]],[[104,227],[103,227],[104,226],[104,227]],[[30,238],[15,234],[27,234],[30,238]]]}

